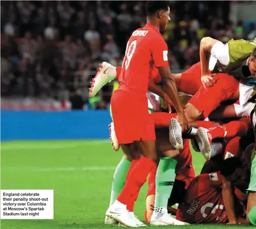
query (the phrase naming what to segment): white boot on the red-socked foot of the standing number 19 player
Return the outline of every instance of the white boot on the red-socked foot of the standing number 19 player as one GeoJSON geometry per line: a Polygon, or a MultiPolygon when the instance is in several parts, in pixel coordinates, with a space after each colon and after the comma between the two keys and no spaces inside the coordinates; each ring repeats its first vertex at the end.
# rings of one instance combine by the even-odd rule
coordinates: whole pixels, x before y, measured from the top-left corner
{"type": "Polygon", "coordinates": [[[139,227],[129,216],[126,207],[115,206],[115,203],[106,211],[106,216],[116,220],[126,227],[139,227]]]}

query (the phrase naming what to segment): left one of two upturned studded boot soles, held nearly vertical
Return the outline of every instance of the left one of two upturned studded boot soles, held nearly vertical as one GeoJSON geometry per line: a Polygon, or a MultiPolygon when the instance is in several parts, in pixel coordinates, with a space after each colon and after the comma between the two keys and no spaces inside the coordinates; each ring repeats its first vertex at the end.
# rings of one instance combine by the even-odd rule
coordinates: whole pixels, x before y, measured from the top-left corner
{"type": "Polygon", "coordinates": [[[176,150],[183,149],[181,126],[175,118],[171,118],[169,121],[169,141],[176,150]]]}

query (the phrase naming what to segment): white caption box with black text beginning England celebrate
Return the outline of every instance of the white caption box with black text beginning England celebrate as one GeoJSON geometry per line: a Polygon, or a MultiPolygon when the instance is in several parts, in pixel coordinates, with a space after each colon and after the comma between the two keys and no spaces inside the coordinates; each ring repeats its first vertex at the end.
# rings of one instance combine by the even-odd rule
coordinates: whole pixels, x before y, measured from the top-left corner
{"type": "Polygon", "coordinates": [[[1,219],[53,219],[53,190],[1,190],[1,219]]]}

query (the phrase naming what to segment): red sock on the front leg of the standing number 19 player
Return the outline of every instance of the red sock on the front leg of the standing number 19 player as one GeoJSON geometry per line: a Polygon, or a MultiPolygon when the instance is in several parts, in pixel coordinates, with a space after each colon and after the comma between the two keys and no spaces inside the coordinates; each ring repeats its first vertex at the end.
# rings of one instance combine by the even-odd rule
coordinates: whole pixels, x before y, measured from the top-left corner
{"type": "Polygon", "coordinates": [[[131,170],[130,175],[123,186],[123,189],[117,200],[125,205],[131,205],[134,202],[134,197],[138,196],[141,186],[145,183],[148,173],[156,167],[156,163],[151,159],[142,157],[137,162],[136,166],[131,170]]]}

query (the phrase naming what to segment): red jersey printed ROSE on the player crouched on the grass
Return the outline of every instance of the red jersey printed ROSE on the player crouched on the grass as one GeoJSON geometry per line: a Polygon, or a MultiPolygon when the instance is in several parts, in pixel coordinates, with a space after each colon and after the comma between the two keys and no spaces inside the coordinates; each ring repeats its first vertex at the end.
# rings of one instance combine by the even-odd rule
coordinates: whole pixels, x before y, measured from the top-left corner
{"type": "Polygon", "coordinates": [[[176,218],[187,223],[228,222],[221,185],[220,172],[197,176],[189,185],[184,202],[177,210],[176,218]]]}

